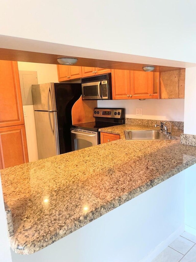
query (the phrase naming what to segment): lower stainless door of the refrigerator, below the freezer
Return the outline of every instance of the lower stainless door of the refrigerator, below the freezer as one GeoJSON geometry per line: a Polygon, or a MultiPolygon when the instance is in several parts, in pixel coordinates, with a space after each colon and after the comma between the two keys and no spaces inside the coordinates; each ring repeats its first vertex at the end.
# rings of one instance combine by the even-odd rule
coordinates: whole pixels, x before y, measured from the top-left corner
{"type": "Polygon", "coordinates": [[[59,154],[57,112],[34,113],[39,159],[59,154]]]}

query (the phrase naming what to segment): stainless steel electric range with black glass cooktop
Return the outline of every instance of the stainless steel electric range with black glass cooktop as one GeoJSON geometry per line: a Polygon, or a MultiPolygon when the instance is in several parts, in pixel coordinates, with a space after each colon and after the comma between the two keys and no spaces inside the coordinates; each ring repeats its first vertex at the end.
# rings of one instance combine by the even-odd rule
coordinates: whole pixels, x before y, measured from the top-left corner
{"type": "Polygon", "coordinates": [[[95,122],[75,124],[71,127],[72,151],[100,144],[99,128],[125,123],[124,108],[95,108],[95,122]]]}

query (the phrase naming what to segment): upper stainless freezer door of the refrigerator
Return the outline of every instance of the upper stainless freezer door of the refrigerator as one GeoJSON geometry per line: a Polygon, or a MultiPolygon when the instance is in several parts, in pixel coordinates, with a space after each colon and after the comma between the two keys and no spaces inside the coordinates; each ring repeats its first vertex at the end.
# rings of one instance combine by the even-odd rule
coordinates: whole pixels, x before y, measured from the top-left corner
{"type": "Polygon", "coordinates": [[[56,111],[54,83],[32,85],[33,107],[36,111],[56,111]]]}

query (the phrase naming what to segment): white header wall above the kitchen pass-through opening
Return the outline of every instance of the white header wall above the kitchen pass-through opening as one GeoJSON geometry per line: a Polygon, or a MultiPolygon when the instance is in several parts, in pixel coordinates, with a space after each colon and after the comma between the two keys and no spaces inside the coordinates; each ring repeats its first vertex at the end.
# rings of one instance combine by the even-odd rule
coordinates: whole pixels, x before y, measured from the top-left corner
{"type": "MultiPolygon", "coordinates": [[[[0,35],[70,45],[69,49],[77,46],[196,63],[195,9],[195,1],[178,0],[100,0],[99,4],[34,0],[33,5],[2,0],[0,35]]],[[[2,47],[10,48],[9,44],[1,41],[2,47]]],[[[29,49],[30,41],[22,48],[29,49]]],[[[47,48],[45,43],[42,52],[47,53],[47,48]]]]}

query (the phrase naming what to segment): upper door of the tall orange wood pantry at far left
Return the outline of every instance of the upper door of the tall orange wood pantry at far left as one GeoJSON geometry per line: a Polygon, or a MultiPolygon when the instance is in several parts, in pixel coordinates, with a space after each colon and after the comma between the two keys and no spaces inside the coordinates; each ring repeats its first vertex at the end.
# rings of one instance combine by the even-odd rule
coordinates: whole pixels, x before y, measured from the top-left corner
{"type": "Polygon", "coordinates": [[[18,65],[0,60],[0,127],[24,124],[18,65]]]}

